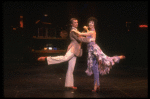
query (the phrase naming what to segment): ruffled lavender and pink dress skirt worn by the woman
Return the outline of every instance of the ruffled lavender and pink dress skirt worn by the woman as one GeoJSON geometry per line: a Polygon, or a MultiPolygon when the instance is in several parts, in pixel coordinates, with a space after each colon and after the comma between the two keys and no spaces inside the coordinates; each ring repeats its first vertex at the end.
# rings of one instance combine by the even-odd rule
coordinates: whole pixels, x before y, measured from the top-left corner
{"type": "MultiPolygon", "coordinates": [[[[92,38],[88,36],[88,38],[92,38]]],[[[88,49],[88,58],[87,58],[87,70],[85,71],[88,76],[93,74],[92,66],[93,66],[93,59],[94,56],[98,57],[101,60],[102,64],[99,65],[99,73],[101,75],[109,74],[110,69],[112,66],[117,62],[119,63],[120,58],[118,56],[109,57],[103,53],[101,48],[95,43],[90,42],[87,44],[88,49]]]]}

